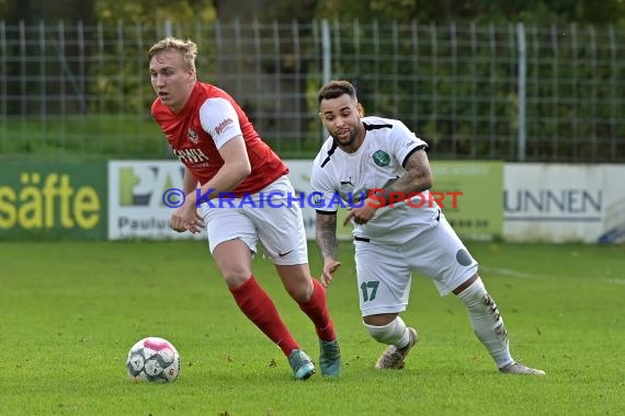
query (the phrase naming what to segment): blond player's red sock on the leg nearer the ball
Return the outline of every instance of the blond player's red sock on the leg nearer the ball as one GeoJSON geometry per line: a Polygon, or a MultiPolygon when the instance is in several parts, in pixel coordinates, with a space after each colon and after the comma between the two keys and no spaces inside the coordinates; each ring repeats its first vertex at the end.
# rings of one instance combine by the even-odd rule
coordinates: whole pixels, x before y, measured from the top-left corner
{"type": "MultiPolygon", "coordinates": [[[[286,325],[282,322],[273,301],[259,286],[253,276],[242,285],[230,289],[230,292],[246,316],[273,340],[286,357],[288,357],[294,349],[299,349],[299,346],[286,328],[286,325]]],[[[312,298],[315,298],[315,294],[312,298]]],[[[323,296],[323,304],[325,300],[326,297],[323,296]]],[[[311,301],[312,299],[310,299],[310,302],[311,301]]],[[[308,302],[308,304],[310,302],[308,302]]]]}

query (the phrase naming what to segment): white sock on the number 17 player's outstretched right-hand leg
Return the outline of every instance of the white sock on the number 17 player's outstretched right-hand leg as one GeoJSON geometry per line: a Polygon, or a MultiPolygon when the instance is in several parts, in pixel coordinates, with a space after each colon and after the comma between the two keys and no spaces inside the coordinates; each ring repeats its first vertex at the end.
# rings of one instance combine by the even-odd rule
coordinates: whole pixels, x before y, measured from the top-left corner
{"type": "Polygon", "coordinates": [[[497,367],[502,368],[513,362],[508,347],[508,332],[503,325],[503,320],[499,314],[497,304],[486,291],[481,279],[478,278],[463,290],[458,298],[467,308],[475,335],[488,349],[497,367]]]}

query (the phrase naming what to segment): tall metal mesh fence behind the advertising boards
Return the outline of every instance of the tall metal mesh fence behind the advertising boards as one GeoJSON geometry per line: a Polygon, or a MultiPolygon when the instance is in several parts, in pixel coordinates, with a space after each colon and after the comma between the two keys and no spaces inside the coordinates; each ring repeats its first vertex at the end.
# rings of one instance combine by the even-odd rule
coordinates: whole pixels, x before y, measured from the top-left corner
{"type": "Polygon", "coordinates": [[[0,22],[0,155],[167,157],[147,62],[166,35],[200,45],[200,79],[284,157],[316,153],[316,92],[350,79],[367,114],[402,119],[439,159],[625,161],[624,30],[357,21],[0,22]]]}

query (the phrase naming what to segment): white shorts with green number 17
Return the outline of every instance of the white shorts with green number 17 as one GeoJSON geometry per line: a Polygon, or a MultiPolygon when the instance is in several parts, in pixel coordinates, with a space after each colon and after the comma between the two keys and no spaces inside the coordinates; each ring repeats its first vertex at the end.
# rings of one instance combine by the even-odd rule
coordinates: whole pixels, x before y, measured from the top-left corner
{"type": "Polygon", "coordinates": [[[441,296],[477,273],[471,257],[445,217],[404,244],[354,241],[360,307],[363,316],[399,313],[410,296],[411,270],[432,278],[441,296]]]}

